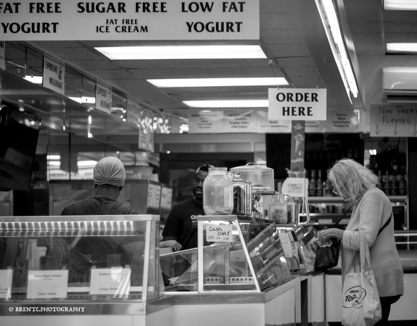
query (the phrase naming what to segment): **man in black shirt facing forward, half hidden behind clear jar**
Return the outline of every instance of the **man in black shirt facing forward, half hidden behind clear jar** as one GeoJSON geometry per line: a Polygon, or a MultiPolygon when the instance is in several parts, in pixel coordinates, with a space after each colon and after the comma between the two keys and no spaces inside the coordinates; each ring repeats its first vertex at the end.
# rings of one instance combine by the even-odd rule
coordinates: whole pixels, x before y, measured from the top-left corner
{"type": "Polygon", "coordinates": [[[203,181],[208,174],[208,168],[214,168],[209,164],[198,167],[194,175],[193,193],[189,198],[173,206],[163,229],[164,240],[176,240],[182,250],[197,247],[197,227],[192,222],[198,215],[205,215],[203,211],[203,181]]]}

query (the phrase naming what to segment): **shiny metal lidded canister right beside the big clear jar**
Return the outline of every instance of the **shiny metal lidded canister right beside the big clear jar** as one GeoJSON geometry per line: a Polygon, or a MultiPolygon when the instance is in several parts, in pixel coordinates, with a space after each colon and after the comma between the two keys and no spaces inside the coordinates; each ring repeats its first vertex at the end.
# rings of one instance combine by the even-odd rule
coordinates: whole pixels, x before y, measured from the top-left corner
{"type": "Polygon", "coordinates": [[[242,178],[239,173],[228,172],[233,182],[233,211],[234,215],[252,214],[252,184],[242,178]]]}

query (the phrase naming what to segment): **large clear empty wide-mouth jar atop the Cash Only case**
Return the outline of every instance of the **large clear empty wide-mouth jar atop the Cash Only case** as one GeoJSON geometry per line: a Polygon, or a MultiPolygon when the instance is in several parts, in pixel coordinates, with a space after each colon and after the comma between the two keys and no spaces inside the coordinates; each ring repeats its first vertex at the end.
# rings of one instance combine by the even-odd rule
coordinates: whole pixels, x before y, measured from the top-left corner
{"type": "Polygon", "coordinates": [[[233,211],[233,182],[227,168],[208,168],[203,182],[203,210],[206,215],[229,215],[233,211]]]}

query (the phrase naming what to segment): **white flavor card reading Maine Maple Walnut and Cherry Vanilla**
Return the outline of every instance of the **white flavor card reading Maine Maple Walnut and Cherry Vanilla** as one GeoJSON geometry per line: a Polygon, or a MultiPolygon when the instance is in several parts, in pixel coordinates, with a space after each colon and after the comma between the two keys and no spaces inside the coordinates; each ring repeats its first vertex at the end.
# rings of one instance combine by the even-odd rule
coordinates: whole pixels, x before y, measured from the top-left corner
{"type": "Polygon", "coordinates": [[[68,270],[28,271],[28,299],[66,298],[68,270]]]}

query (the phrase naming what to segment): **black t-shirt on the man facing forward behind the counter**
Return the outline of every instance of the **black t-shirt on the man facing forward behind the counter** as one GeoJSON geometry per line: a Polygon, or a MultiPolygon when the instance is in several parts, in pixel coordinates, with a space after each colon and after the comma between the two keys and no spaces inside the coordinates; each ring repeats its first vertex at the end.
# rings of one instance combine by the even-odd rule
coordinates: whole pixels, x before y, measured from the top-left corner
{"type": "Polygon", "coordinates": [[[192,222],[197,221],[198,215],[206,215],[203,204],[198,203],[194,198],[187,199],[173,206],[163,229],[163,236],[177,238],[181,244],[181,250],[196,248],[197,227],[193,227],[192,222]]]}

